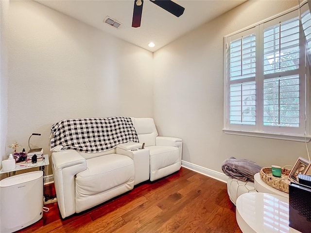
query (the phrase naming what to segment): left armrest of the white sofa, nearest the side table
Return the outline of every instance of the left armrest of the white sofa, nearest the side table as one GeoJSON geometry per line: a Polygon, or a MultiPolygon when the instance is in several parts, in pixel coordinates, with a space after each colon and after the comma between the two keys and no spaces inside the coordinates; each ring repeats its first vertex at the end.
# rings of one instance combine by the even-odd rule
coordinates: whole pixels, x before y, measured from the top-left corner
{"type": "Polygon", "coordinates": [[[75,175],[86,169],[86,159],[76,150],[52,153],[57,202],[63,218],[75,213],[75,175]]]}

